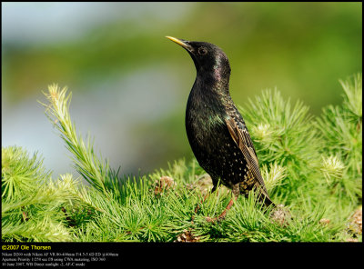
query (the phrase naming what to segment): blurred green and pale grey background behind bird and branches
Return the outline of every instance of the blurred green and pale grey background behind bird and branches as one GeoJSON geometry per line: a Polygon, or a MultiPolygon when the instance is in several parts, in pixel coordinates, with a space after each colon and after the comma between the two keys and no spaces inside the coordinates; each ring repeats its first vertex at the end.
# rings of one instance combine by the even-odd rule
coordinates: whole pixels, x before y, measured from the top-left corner
{"type": "Polygon", "coordinates": [[[67,85],[78,132],[123,174],[192,158],[184,117],[195,80],[172,35],[219,45],[238,105],[275,88],[310,113],[341,102],[362,72],[361,3],[2,3],[2,146],[75,173],[37,100],[67,85]]]}

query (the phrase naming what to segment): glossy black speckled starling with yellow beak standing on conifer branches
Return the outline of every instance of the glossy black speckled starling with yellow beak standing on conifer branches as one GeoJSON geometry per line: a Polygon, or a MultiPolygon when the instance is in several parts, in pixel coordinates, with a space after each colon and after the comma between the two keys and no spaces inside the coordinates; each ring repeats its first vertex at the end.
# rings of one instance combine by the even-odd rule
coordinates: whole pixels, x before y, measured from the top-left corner
{"type": "MultiPolygon", "coordinates": [[[[229,93],[227,55],[217,45],[207,42],[166,37],[187,50],[197,69],[187,101],[186,130],[198,164],[212,178],[212,192],[220,180],[232,189],[235,197],[248,196],[255,188],[264,204],[273,204],[260,174],[248,128],[229,93]]],[[[225,217],[232,204],[233,200],[218,219],[225,217]]]]}

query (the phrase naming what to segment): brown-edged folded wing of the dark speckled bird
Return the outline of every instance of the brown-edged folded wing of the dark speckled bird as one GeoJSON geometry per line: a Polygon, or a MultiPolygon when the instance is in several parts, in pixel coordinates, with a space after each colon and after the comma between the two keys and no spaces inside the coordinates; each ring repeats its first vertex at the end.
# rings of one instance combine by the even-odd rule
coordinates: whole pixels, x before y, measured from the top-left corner
{"type": "Polygon", "coordinates": [[[258,181],[258,184],[262,187],[263,193],[269,197],[263,177],[260,174],[258,157],[248,131],[246,129],[239,128],[236,121],[231,117],[226,119],[225,122],[227,124],[228,132],[234,142],[238,145],[241,152],[244,154],[244,157],[248,162],[249,169],[251,169],[254,177],[258,181]]]}

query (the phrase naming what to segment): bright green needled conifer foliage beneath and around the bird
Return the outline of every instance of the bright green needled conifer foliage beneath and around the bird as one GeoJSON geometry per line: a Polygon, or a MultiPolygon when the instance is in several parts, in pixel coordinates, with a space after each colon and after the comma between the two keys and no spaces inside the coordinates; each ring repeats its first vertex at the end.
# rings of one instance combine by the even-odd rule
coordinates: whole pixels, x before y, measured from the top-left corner
{"type": "Polygon", "coordinates": [[[281,223],[261,210],[256,194],[231,199],[195,159],[167,170],[126,176],[95,154],[91,139],[76,134],[71,95],[56,85],[45,94],[45,114],[55,125],[73,163],[89,185],[72,174],[53,180],[37,154],[2,148],[2,240],[10,242],[342,242],[361,241],[350,216],[362,201],[362,77],[341,82],[342,105],[309,115],[278,90],[266,90],[240,107],[256,146],[268,193],[291,213],[281,223]],[[196,205],[199,211],[192,215],[196,205]]]}

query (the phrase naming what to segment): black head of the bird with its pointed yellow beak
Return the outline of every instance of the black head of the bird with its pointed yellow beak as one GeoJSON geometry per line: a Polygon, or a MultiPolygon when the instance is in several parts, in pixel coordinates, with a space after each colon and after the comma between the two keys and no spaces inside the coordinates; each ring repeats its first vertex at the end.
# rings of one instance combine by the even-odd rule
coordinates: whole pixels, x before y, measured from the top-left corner
{"type": "Polygon", "coordinates": [[[217,45],[207,42],[187,41],[172,36],[166,37],[187,50],[195,63],[197,75],[212,72],[217,76],[224,75],[228,79],[230,65],[227,55],[217,45]]]}

